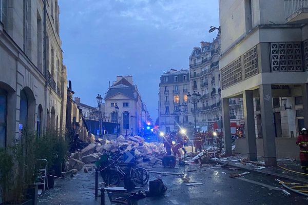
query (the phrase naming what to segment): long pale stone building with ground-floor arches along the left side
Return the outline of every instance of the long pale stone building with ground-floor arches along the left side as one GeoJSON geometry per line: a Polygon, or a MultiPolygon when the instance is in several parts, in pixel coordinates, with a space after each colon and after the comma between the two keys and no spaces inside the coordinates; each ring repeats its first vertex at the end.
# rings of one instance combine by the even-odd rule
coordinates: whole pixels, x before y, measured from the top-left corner
{"type": "Polygon", "coordinates": [[[67,80],[57,1],[0,1],[0,147],[25,129],[65,128],[67,80]],[[46,5],[44,5],[46,3],[46,5]]]}

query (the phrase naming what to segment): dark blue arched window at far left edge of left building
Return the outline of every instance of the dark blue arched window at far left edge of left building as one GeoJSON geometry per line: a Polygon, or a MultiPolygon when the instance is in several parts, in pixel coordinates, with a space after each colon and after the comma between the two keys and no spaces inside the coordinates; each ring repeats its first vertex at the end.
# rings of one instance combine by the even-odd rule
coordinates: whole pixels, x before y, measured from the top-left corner
{"type": "Polygon", "coordinates": [[[7,93],[0,89],[0,148],[6,145],[7,93]]]}

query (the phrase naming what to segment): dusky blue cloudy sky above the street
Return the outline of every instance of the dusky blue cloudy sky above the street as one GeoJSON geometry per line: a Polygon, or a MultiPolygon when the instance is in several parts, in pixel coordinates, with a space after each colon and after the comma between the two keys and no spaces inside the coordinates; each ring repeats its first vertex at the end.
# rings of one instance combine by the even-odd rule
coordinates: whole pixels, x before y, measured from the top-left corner
{"type": "Polygon", "coordinates": [[[218,0],[59,0],[67,78],[81,103],[96,107],[109,81],[132,75],[153,121],[160,76],[188,69],[200,42],[219,26],[218,0]]]}

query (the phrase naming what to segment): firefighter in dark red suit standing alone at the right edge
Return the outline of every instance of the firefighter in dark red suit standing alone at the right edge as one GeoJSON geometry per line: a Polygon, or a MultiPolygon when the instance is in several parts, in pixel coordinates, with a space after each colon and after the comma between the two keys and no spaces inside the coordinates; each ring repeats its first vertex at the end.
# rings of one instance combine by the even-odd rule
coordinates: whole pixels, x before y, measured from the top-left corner
{"type": "Polygon", "coordinates": [[[307,128],[301,130],[301,135],[297,137],[296,145],[299,146],[299,159],[304,173],[308,173],[308,131],[307,128]]]}

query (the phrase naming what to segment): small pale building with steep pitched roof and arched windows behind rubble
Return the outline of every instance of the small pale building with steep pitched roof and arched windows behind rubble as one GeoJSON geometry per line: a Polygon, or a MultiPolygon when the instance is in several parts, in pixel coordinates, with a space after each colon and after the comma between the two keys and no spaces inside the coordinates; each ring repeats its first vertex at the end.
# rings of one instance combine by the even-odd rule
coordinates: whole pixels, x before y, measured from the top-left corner
{"type": "Polygon", "coordinates": [[[141,133],[142,100],[132,76],[117,76],[105,97],[105,117],[107,121],[120,124],[120,134],[138,135],[141,133]],[[119,108],[118,110],[116,108],[119,108]]]}

